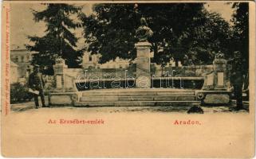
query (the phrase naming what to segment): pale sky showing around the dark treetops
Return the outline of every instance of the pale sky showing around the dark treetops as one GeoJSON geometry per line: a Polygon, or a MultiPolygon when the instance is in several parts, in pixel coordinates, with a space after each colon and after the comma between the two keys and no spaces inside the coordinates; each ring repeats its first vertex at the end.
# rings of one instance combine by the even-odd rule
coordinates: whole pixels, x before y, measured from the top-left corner
{"type": "MultiPolygon", "coordinates": [[[[79,4],[83,6],[83,12],[85,14],[92,14],[92,4],[79,4]]],[[[230,4],[225,2],[208,2],[205,4],[205,8],[210,12],[219,13],[226,21],[230,22],[231,15],[234,10],[230,4]]],[[[11,48],[25,48],[25,44],[31,44],[27,36],[38,36],[44,35],[45,23],[33,21],[32,10],[44,10],[45,6],[38,3],[13,3],[10,6],[10,43],[11,48]]],[[[77,29],[77,37],[82,37],[82,29],[77,29]]],[[[82,46],[84,39],[78,41],[78,47],[82,46]]]]}

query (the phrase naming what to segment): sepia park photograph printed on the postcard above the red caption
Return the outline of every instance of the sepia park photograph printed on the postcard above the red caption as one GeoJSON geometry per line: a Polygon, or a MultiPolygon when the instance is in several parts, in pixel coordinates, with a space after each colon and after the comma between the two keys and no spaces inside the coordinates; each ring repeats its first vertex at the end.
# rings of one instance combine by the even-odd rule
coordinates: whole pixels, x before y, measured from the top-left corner
{"type": "Polygon", "coordinates": [[[10,8],[12,111],[249,112],[248,2],[10,8]]]}

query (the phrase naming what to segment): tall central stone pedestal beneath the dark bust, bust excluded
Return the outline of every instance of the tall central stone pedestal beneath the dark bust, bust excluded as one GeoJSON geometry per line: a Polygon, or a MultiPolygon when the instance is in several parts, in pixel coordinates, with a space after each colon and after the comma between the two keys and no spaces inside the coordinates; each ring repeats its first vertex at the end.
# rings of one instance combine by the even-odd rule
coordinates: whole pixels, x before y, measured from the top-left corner
{"type": "Polygon", "coordinates": [[[148,41],[136,43],[136,87],[151,87],[150,47],[148,41]]]}

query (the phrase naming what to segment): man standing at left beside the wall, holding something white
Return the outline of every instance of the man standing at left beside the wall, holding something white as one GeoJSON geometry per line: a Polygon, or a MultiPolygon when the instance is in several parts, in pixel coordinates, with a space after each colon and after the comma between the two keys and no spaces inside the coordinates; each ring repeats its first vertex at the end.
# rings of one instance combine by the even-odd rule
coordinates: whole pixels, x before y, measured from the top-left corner
{"type": "MultiPolygon", "coordinates": [[[[42,78],[39,65],[37,65],[37,64],[33,67],[33,72],[30,74],[29,86],[32,90],[39,91],[39,95],[41,97],[41,105],[42,105],[42,107],[45,107],[45,95],[43,92],[45,83],[42,78]]],[[[38,95],[33,94],[33,98],[34,98],[34,103],[35,103],[36,109],[38,109],[38,107],[39,107],[38,95]]]]}

